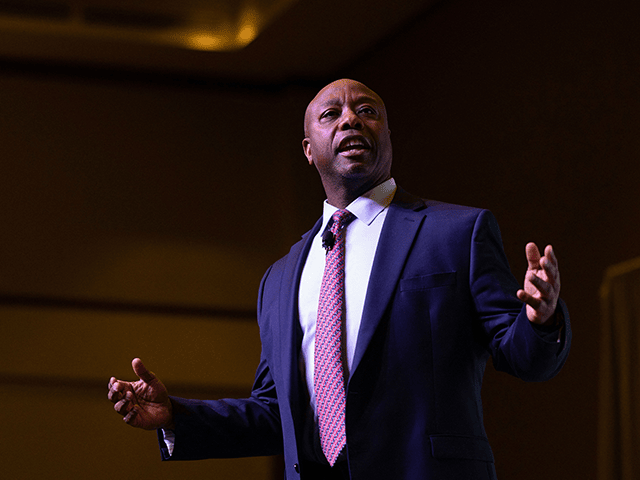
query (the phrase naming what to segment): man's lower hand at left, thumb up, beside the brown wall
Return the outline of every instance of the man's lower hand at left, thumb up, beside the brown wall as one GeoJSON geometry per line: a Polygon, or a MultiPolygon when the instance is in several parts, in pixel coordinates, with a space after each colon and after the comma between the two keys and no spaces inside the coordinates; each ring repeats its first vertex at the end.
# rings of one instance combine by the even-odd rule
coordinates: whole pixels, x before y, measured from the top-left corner
{"type": "Polygon", "coordinates": [[[131,366],[140,380],[124,382],[115,377],[109,380],[107,398],[115,404],[114,410],[132,427],[145,430],[173,428],[173,412],[166,387],[139,358],[134,358],[131,366]]]}

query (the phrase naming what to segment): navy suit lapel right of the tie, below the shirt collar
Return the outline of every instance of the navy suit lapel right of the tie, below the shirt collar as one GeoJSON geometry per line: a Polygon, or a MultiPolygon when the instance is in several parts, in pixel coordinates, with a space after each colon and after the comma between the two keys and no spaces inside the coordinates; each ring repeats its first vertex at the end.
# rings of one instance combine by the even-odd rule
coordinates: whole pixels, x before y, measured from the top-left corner
{"type": "Polygon", "coordinates": [[[400,279],[413,240],[425,217],[424,202],[398,188],[380,233],[367,287],[352,375],[373,338],[400,279]]]}

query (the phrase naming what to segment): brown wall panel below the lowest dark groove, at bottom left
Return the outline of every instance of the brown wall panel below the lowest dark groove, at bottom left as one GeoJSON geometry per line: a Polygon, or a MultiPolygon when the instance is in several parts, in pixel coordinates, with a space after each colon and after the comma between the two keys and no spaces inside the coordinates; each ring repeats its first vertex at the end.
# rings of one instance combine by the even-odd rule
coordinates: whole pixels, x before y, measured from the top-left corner
{"type": "Polygon", "coordinates": [[[104,388],[0,384],[0,404],[3,478],[271,478],[268,457],[161,462],[155,432],[122,423],[104,388]]]}

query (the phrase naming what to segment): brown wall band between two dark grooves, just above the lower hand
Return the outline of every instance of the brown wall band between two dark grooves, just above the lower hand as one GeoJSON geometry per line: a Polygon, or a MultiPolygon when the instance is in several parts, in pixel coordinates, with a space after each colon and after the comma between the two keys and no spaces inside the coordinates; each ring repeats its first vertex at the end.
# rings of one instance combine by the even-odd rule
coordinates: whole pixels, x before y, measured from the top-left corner
{"type": "MultiPolygon", "coordinates": [[[[250,388],[260,356],[255,322],[185,316],[0,308],[0,374],[131,378],[140,357],[167,384],[250,388]]],[[[248,391],[248,390],[247,390],[248,391]]]]}

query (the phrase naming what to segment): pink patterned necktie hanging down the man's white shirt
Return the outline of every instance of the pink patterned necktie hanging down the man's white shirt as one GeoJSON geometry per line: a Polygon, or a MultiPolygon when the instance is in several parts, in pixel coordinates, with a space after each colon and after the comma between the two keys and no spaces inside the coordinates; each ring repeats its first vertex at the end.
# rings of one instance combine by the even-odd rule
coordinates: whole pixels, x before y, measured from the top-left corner
{"type": "Polygon", "coordinates": [[[345,227],[354,218],[348,210],[338,210],[333,214],[330,231],[335,240],[323,245],[327,248],[327,256],[316,320],[313,384],[316,392],[320,444],[331,466],[336,463],[347,441],[345,379],[342,366],[344,244],[345,227]]]}

